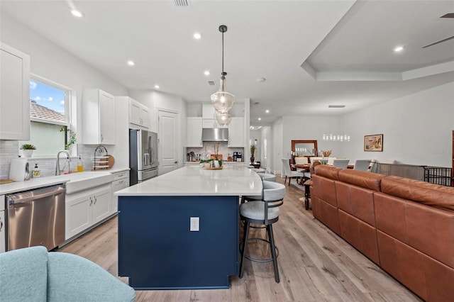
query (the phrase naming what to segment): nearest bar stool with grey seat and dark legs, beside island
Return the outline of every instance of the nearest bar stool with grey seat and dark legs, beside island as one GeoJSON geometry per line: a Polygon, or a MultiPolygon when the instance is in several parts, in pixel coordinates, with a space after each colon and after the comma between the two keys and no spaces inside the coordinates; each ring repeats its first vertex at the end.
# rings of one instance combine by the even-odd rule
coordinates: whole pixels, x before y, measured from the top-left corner
{"type": "Polygon", "coordinates": [[[263,181],[262,201],[242,203],[240,206],[240,218],[244,221],[244,235],[241,252],[240,278],[243,278],[245,258],[256,262],[273,262],[275,270],[275,281],[279,283],[279,269],[277,267],[277,256],[279,250],[275,246],[275,237],[272,231],[272,224],[279,220],[279,206],[284,203],[285,185],[272,181],[263,181]],[[250,223],[265,225],[268,240],[262,238],[249,238],[250,223]],[[270,244],[270,259],[255,259],[247,256],[248,240],[262,240],[270,244]]]}

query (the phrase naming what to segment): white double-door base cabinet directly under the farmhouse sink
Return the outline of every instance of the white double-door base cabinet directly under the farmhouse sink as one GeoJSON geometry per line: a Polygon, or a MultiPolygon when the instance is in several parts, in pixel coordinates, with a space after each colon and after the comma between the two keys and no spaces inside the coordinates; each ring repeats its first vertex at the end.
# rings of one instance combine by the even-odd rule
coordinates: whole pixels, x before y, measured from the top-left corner
{"type": "Polygon", "coordinates": [[[66,196],[65,240],[110,215],[111,184],[66,196]]]}

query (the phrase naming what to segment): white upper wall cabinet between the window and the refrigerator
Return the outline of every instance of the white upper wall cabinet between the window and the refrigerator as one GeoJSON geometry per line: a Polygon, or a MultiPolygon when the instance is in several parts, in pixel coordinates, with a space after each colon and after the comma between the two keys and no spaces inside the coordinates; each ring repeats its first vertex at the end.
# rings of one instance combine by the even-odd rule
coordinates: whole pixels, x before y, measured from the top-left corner
{"type": "Polygon", "coordinates": [[[84,89],[82,143],[115,145],[115,99],[100,89],[84,89]]]}

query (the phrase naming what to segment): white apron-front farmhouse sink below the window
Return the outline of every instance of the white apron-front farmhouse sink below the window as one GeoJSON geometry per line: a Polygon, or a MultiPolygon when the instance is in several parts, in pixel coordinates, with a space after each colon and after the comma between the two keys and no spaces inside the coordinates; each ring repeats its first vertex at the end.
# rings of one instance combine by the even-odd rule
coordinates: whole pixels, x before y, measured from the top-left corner
{"type": "Polygon", "coordinates": [[[66,194],[74,194],[78,191],[84,191],[95,186],[109,184],[113,177],[109,172],[77,172],[64,174],[61,177],[70,179],[66,183],[66,194]]]}

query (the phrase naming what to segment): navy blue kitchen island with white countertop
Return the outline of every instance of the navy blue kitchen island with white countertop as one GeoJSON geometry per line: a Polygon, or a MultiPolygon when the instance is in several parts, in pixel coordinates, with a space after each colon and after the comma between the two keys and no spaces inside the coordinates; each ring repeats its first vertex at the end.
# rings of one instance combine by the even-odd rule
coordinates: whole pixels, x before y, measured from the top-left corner
{"type": "Polygon", "coordinates": [[[245,167],[189,166],[116,192],[118,275],[134,289],[216,289],[238,276],[239,198],[260,196],[245,167]]]}

